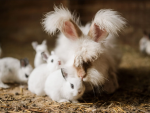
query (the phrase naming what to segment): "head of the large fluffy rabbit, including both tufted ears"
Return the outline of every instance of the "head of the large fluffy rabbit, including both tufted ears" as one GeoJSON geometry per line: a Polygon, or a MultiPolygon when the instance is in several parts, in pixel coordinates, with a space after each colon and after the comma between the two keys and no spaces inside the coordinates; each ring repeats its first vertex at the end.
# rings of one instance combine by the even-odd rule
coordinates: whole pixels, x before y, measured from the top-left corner
{"type": "Polygon", "coordinates": [[[107,37],[118,35],[125,24],[125,19],[111,9],[99,10],[91,25],[86,26],[85,31],[79,26],[79,18],[64,7],[54,7],[54,11],[49,12],[43,20],[46,32],[54,34],[60,30],[75,44],[72,51],[74,51],[73,66],[77,76],[95,85],[104,81],[102,73],[97,71],[98,67],[95,64],[98,59],[101,59],[103,51],[107,51],[105,46],[107,37]]]}

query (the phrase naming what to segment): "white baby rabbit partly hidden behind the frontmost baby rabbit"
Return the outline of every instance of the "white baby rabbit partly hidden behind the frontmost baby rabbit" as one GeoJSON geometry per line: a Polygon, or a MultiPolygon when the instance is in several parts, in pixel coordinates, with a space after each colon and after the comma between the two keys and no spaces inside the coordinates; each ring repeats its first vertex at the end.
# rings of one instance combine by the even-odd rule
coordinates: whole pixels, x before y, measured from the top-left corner
{"type": "Polygon", "coordinates": [[[51,52],[51,54],[52,55],[48,57],[45,53],[42,53],[42,56],[47,63],[36,67],[29,77],[28,89],[39,96],[45,95],[44,84],[47,76],[53,71],[59,69],[62,63],[54,52],[51,52]]]}

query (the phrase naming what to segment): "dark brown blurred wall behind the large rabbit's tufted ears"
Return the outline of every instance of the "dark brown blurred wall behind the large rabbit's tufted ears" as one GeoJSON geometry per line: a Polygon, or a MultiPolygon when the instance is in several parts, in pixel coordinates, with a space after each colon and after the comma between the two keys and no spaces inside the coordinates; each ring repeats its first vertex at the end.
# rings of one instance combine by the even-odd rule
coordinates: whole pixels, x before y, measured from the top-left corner
{"type": "MultiPolygon", "coordinates": [[[[0,42],[2,40],[26,43],[47,39],[41,21],[54,4],[76,11],[84,25],[90,22],[100,9],[114,9],[127,19],[128,27],[121,40],[125,44],[138,45],[143,30],[150,29],[149,0],[1,0],[0,1],[0,42]]],[[[3,45],[3,44],[2,44],[3,45]]]]}

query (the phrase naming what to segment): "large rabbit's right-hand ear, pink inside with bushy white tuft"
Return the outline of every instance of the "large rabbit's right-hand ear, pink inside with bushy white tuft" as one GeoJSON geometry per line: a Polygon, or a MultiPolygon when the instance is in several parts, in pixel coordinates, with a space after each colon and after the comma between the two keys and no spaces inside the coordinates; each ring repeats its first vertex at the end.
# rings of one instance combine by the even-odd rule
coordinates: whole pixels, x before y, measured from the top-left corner
{"type": "Polygon", "coordinates": [[[108,34],[117,35],[126,22],[116,11],[100,10],[96,13],[88,35],[96,42],[105,39],[108,34]]]}

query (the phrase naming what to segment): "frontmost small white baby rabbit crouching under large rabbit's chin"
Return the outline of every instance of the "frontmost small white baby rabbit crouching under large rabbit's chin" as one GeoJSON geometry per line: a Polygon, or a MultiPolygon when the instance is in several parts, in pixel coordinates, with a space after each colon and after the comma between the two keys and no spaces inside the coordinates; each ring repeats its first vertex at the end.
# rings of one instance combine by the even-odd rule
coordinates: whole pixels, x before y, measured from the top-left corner
{"type": "Polygon", "coordinates": [[[85,91],[85,86],[81,78],[72,77],[64,69],[59,69],[47,77],[44,90],[54,101],[77,103],[77,99],[85,91]]]}

